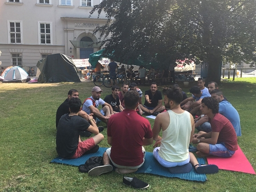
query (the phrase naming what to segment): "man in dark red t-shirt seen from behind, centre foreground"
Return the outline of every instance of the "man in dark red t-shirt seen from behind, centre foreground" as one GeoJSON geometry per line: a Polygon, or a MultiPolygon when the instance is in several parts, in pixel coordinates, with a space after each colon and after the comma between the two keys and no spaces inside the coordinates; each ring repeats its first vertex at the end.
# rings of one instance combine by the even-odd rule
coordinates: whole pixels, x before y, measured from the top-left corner
{"type": "Polygon", "coordinates": [[[146,118],[137,114],[139,104],[137,91],[125,94],[125,110],[110,117],[107,123],[107,142],[111,147],[103,154],[103,166],[95,167],[89,175],[101,175],[112,170],[121,174],[133,173],[145,161],[143,145],[153,143],[153,133],[146,118]],[[136,122],[136,123],[132,123],[136,122]]]}

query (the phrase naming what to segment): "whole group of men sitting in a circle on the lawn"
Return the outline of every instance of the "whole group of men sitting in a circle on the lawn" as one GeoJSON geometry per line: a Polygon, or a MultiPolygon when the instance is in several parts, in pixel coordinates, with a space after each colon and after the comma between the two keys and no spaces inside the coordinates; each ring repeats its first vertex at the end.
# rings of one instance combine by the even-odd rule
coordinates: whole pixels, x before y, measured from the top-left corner
{"type": "Polygon", "coordinates": [[[70,90],[56,114],[57,153],[62,158],[78,158],[98,151],[104,136],[99,133],[103,127],[97,124],[103,121],[107,124],[107,142],[111,147],[103,154],[103,166],[91,169],[89,175],[101,175],[113,167],[120,174],[137,171],[145,161],[143,146],[154,141],[154,158],[171,173],[188,173],[193,167],[197,173],[217,173],[216,165],[199,164],[189,152],[189,145],[197,144],[199,157],[231,157],[238,149],[240,119],[237,110],[218,90],[217,83],[210,82],[208,89],[204,85],[205,81],[199,78],[198,86],[190,89],[193,97],[187,98],[178,85],[161,93],[153,82],[150,90],[145,91],[144,105],[142,91],[136,83],[131,83],[130,89],[123,85],[121,91],[113,86],[112,93],[104,100],[100,98],[102,90],[95,86],[91,97],[83,103],[78,91],[70,90]],[[157,115],[153,129],[141,117],[144,113],[157,115]],[[198,118],[194,119],[193,115],[198,118]],[[195,127],[199,131],[196,134],[195,127]],[[86,131],[94,136],[81,141],[80,134],[86,131]]]}

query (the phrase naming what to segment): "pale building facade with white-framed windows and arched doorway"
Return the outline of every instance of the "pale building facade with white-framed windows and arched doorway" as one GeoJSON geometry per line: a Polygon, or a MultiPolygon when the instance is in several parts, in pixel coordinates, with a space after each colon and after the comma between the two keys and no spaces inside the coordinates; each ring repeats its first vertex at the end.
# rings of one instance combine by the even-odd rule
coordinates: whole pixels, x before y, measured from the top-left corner
{"type": "Polygon", "coordinates": [[[62,53],[89,58],[99,50],[97,26],[107,19],[90,15],[101,0],[1,0],[0,50],[2,67],[35,67],[39,59],[62,53]]]}

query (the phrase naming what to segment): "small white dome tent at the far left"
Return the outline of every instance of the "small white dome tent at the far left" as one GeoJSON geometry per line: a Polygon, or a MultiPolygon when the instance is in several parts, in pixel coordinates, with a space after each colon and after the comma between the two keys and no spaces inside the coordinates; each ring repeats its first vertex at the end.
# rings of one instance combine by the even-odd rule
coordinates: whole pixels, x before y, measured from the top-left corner
{"type": "Polygon", "coordinates": [[[29,74],[21,67],[11,67],[5,74],[3,83],[24,83],[29,81],[29,74]]]}

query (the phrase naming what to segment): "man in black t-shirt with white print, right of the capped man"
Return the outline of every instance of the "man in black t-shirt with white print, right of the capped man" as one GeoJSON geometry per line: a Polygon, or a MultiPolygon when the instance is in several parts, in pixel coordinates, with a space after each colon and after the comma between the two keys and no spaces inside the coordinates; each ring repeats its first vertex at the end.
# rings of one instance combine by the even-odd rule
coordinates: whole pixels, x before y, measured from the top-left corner
{"type": "Polygon", "coordinates": [[[109,105],[111,105],[113,111],[114,111],[114,114],[115,113],[119,113],[122,110],[122,107],[121,107],[121,102],[120,102],[120,99],[119,99],[119,91],[120,91],[120,88],[118,86],[113,86],[111,88],[112,90],[112,94],[110,95],[107,95],[104,99],[104,101],[106,103],[109,103],[109,105]]]}

